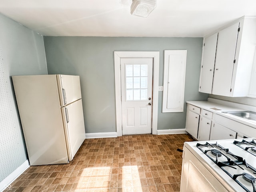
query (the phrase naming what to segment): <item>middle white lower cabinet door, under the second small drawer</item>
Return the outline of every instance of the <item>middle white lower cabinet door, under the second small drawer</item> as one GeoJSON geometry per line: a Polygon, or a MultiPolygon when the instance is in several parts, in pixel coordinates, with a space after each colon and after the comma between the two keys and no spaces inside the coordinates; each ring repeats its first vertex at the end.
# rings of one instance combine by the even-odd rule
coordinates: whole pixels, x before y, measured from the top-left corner
{"type": "Polygon", "coordinates": [[[202,117],[198,128],[198,141],[208,141],[210,138],[212,120],[202,117]]]}

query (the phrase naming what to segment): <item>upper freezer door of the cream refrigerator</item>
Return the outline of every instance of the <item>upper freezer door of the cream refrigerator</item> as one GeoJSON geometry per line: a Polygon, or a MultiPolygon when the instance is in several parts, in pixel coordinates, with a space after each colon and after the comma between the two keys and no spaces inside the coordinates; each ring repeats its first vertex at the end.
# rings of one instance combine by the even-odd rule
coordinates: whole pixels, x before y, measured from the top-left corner
{"type": "Polygon", "coordinates": [[[74,75],[56,75],[56,76],[58,79],[61,106],[65,106],[66,104],[72,103],[82,98],[79,76],[74,76],[74,75]]]}

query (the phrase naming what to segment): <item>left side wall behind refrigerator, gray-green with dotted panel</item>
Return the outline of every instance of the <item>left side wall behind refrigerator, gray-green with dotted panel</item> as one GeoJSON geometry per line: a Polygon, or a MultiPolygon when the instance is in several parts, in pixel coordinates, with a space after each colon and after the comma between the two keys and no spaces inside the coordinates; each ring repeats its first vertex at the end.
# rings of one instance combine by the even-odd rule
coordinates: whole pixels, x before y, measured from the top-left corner
{"type": "MultiPolygon", "coordinates": [[[[6,126],[0,121],[0,136],[6,131],[17,133],[17,137],[10,135],[5,138],[5,146],[11,146],[14,143],[19,146],[15,151],[8,151],[4,146],[0,146],[2,156],[7,156],[8,160],[0,163],[0,181],[12,173],[18,166],[27,160],[26,146],[20,125],[16,99],[12,86],[12,75],[28,75],[28,74],[47,74],[46,58],[44,51],[43,37],[36,34],[32,30],[18,24],[14,20],[0,14],[0,46],[2,47],[2,55],[4,59],[4,69],[7,79],[8,92],[10,92],[10,110],[14,114],[14,125],[6,126]],[[9,142],[9,143],[8,143],[9,142]],[[14,166],[16,165],[16,166],[14,166]]],[[[2,75],[2,74],[1,74],[2,75]]],[[[0,90],[6,89],[0,85],[0,90]]],[[[1,99],[1,98],[0,98],[1,99]]],[[[0,107],[0,114],[6,111],[0,107]]]]}

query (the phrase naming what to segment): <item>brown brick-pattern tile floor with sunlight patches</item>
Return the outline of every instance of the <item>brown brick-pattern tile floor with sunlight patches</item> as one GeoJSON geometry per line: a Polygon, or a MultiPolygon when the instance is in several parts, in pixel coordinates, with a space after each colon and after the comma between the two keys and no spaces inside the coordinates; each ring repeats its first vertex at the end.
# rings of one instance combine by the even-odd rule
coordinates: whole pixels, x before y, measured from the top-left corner
{"type": "Polygon", "coordinates": [[[179,192],[187,134],[86,139],[69,164],[30,166],[4,192],[179,192]]]}

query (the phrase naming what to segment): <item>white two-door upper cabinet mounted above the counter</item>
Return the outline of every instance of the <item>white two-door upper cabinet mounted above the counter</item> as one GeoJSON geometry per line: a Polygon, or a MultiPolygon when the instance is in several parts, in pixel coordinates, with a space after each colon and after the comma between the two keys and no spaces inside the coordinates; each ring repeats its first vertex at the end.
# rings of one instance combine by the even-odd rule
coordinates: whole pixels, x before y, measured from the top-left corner
{"type": "Polygon", "coordinates": [[[256,45],[255,34],[256,18],[243,17],[218,32],[216,51],[216,44],[212,40],[216,34],[204,38],[204,42],[210,42],[208,46],[211,48],[206,47],[206,44],[203,47],[200,92],[230,97],[248,95],[256,45]],[[210,63],[212,66],[214,54],[214,73],[210,74],[209,68],[204,67],[210,63]]]}

